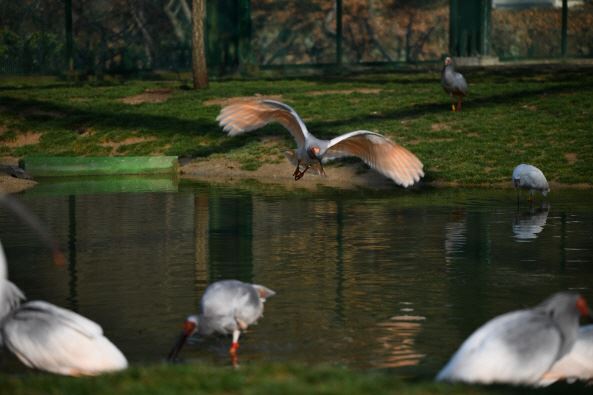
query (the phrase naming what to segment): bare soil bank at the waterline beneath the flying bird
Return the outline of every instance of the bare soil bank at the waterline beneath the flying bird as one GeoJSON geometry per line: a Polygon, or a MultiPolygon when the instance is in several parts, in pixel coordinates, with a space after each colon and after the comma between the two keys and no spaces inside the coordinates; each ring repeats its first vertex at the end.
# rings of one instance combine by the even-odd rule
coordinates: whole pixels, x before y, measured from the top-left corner
{"type": "Polygon", "coordinates": [[[362,163],[333,164],[324,166],[326,176],[308,172],[298,181],[292,173],[294,166],[287,160],[281,163],[266,163],[255,171],[241,170],[237,162],[225,158],[193,160],[181,166],[181,177],[214,183],[240,183],[253,179],[262,184],[281,185],[287,190],[309,189],[319,186],[339,189],[393,189],[398,188],[393,181],[362,163]]]}

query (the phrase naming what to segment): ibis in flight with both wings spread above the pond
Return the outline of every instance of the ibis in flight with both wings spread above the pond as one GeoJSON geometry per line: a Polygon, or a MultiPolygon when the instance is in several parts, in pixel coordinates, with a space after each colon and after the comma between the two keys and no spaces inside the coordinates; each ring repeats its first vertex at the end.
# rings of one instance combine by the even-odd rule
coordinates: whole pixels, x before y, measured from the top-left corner
{"type": "Polygon", "coordinates": [[[259,129],[269,123],[278,122],[284,126],[296,140],[296,169],[294,179],[300,179],[309,168],[325,174],[322,160],[331,160],[345,156],[356,156],[367,165],[396,184],[409,187],[424,176],[422,162],[404,147],[395,144],[386,137],[357,130],[322,140],[313,136],[295,110],[275,100],[248,100],[224,107],[218,117],[220,126],[235,136],[259,129]],[[301,166],[304,170],[301,171],[301,166]]]}

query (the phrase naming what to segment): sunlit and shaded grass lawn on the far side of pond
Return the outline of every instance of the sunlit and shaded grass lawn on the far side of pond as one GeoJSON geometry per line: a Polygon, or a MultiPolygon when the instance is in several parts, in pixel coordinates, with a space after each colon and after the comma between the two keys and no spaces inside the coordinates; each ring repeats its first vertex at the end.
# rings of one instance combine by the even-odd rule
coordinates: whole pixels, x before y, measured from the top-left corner
{"type": "Polygon", "coordinates": [[[439,72],[382,72],[302,79],[71,84],[53,78],[0,80],[0,156],[224,155],[246,169],[284,160],[293,146],[279,125],[229,138],[216,99],[279,95],[309,130],[331,137],[357,129],[383,133],[424,162],[426,180],[508,181],[521,162],[550,181],[591,183],[593,73],[590,68],[468,70],[470,95],[450,112],[439,72]],[[161,103],[122,99],[170,89],[161,103]],[[266,139],[266,136],[276,136],[266,139]]]}

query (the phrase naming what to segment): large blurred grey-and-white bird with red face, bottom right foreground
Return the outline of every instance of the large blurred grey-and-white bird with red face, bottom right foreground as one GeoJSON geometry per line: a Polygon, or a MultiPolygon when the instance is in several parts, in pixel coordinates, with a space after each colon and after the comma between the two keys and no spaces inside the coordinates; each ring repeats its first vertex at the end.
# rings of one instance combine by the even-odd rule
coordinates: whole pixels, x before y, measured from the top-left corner
{"type": "Polygon", "coordinates": [[[531,309],[500,315],[476,330],[437,375],[470,383],[537,384],[573,347],[585,299],[559,292],[531,309]]]}

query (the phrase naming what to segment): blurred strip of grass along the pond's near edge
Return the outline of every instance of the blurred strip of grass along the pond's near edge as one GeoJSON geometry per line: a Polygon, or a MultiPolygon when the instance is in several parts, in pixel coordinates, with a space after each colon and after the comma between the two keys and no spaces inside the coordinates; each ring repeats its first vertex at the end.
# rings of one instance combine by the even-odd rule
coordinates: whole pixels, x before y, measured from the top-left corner
{"type": "Polygon", "coordinates": [[[70,378],[45,373],[0,375],[2,393],[21,394],[590,394],[577,383],[543,389],[470,386],[400,379],[388,372],[356,372],[339,367],[207,365],[136,367],[124,373],[70,378]]]}

